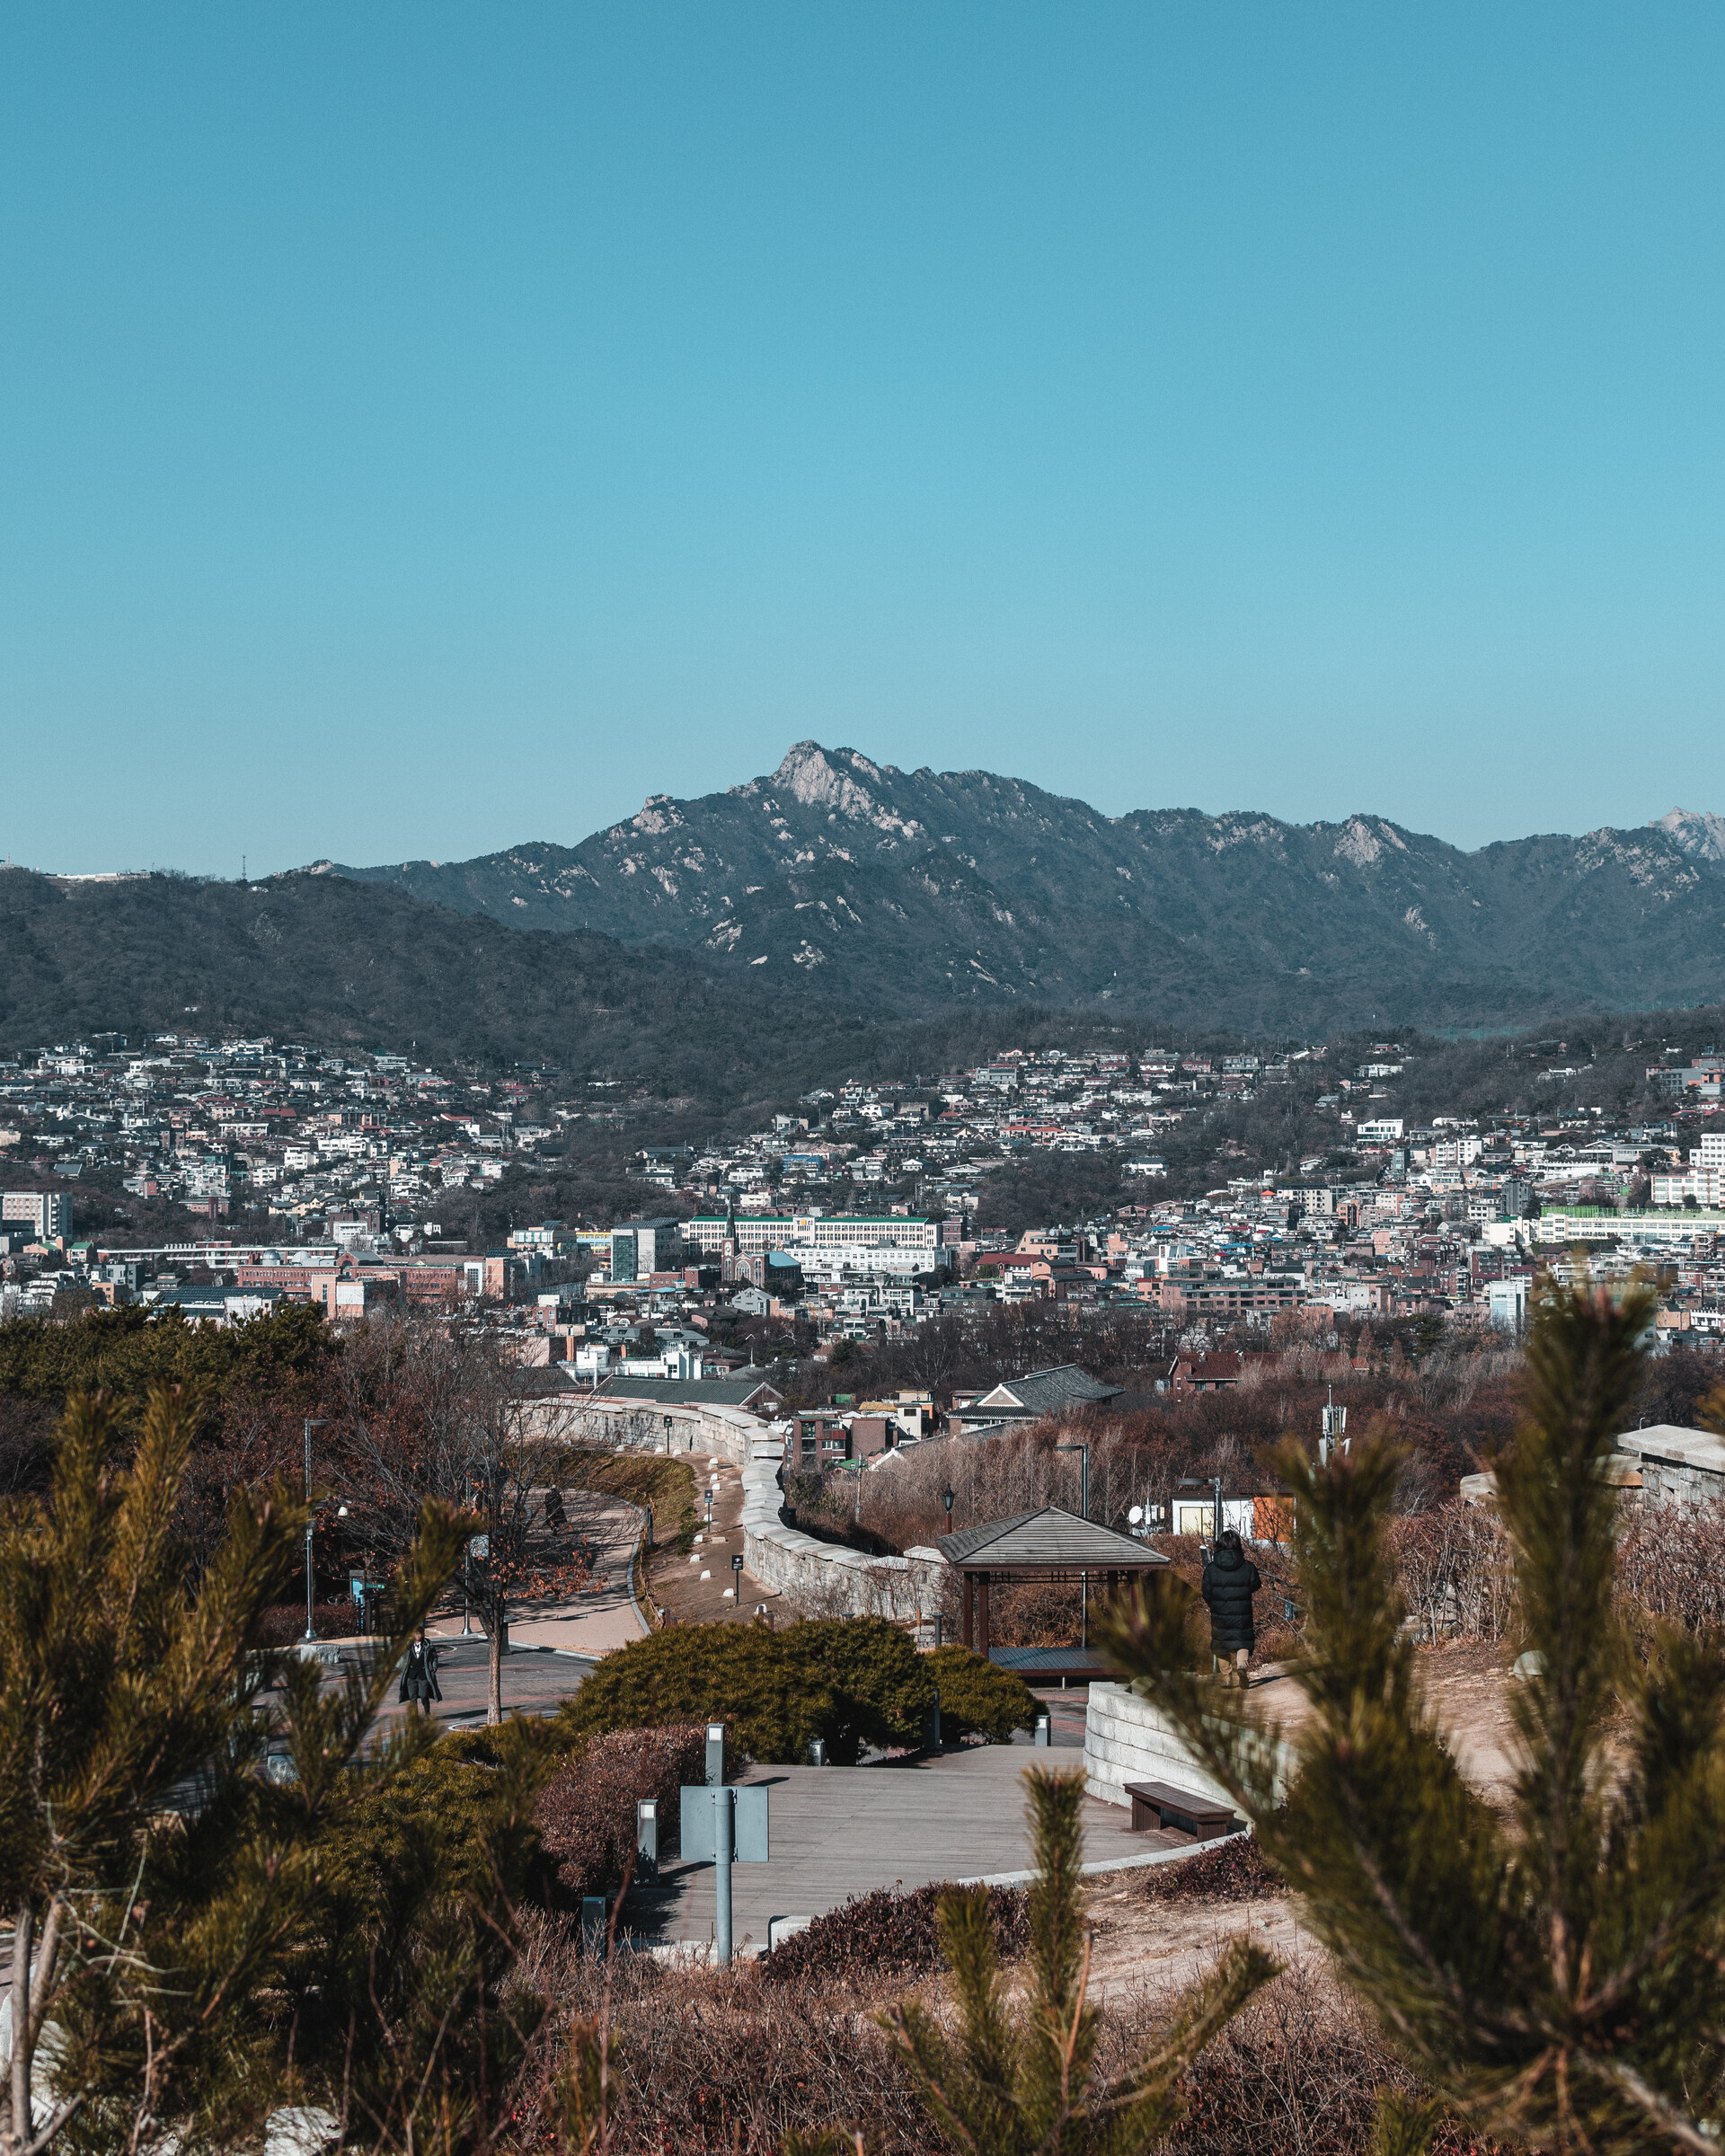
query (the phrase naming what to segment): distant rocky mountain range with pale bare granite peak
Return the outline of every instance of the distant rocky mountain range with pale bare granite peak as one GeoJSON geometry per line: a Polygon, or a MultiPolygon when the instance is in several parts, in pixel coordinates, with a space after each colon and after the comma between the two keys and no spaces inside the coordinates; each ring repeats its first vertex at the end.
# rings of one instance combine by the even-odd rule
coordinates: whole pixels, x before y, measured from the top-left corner
{"type": "Polygon", "coordinates": [[[574,847],[302,875],[673,946],[759,996],[882,1015],[1020,1003],[1309,1035],[1725,994],[1725,817],[1682,808],[1464,854],[1374,815],[1106,817],[798,742],[770,778],[656,793],[574,847]]]}

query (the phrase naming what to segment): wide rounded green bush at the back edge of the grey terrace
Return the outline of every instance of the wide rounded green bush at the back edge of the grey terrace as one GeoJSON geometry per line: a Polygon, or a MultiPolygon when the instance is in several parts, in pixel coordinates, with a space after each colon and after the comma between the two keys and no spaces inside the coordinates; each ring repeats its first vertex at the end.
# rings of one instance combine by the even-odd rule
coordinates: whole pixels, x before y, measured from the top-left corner
{"type": "Polygon", "coordinates": [[[753,1623],[671,1626],[608,1654],[558,1712],[558,1742],[606,1729],[724,1720],[731,1744],[778,1766],[824,1738],[834,1766],[862,1746],[916,1744],[934,1705],[927,1656],[882,1617],[768,1632],[753,1623]]]}

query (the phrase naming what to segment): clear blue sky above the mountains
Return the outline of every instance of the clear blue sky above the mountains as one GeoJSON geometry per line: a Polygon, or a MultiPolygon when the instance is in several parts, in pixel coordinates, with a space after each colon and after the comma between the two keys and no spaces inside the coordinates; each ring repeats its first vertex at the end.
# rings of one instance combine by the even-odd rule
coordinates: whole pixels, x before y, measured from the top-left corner
{"type": "Polygon", "coordinates": [[[1725,13],[0,17],[0,849],[1725,808],[1725,13]]]}

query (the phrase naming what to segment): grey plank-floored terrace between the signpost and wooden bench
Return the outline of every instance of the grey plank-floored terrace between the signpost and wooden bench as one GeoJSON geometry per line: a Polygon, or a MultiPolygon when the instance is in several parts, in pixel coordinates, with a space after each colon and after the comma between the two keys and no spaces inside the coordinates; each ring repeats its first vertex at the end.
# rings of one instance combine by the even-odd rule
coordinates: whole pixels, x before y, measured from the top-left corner
{"type": "MultiPolygon", "coordinates": [[[[765,1947],[774,1917],[817,1917],[875,1887],[994,1878],[1031,1869],[1024,1820],[1026,1766],[1076,1768],[1085,1744],[1082,1692],[1054,1708],[1054,1742],[983,1744],[903,1766],[750,1768],[744,1783],[772,1792],[772,1861],[731,1867],[737,1947],[765,1947]]],[[[1128,1830],[1117,1805],[1085,1798],[1085,1863],[1186,1850],[1188,1835],[1128,1830]]],[[[714,1936],[714,1867],[666,1865],[662,1884],[630,1895],[627,1925],[643,1945],[705,1945],[714,1936]]]]}

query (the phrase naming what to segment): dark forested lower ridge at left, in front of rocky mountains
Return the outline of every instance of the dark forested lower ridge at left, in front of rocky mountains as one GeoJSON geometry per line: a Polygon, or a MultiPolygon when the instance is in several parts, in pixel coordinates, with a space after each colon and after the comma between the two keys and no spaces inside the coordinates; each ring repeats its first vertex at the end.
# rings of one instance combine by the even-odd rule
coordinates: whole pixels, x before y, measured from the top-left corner
{"type": "Polygon", "coordinates": [[[91,1033],[274,1035],[433,1065],[548,1063],[662,1104],[742,1110],[834,1076],[1070,1044],[1085,1018],[934,1020],[774,996],[701,953],[507,929],[336,875],[254,884],[0,869],[0,1052],[91,1033]]]}

